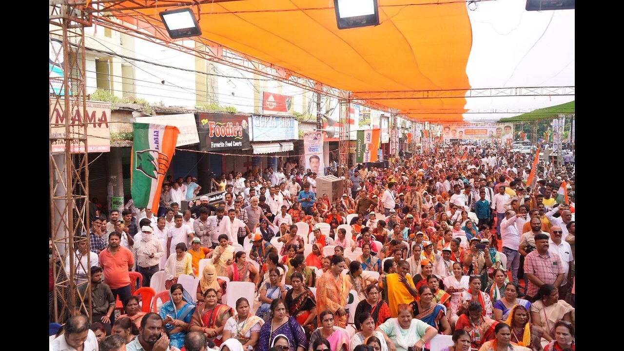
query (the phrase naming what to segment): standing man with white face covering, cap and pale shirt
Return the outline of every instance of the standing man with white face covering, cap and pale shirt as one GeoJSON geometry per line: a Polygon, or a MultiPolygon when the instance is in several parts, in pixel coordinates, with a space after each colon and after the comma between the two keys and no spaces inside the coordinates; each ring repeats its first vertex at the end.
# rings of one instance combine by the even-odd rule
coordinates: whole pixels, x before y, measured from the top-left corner
{"type": "Polygon", "coordinates": [[[160,257],[165,255],[160,240],[154,237],[154,230],[149,225],[141,227],[140,240],[135,242],[134,249],[137,252],[137,270],[143,276],[143,286],[149,287],[152,275],[160,268],[160,257]]]}

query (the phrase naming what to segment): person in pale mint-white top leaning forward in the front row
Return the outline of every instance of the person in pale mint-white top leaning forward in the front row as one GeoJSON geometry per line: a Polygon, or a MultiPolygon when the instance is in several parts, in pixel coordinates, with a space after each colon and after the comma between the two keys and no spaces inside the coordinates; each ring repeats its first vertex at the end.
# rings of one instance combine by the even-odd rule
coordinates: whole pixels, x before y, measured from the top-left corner
{"type": "Polygon", "coordinates": [[[414,318],[409,305],[399,304],[397,315],[398,317],[386,320],[377,328],[386,340],[389,350],[407,351],[411,347],[422,350],[437,335],[434,327],[414,318]]]}

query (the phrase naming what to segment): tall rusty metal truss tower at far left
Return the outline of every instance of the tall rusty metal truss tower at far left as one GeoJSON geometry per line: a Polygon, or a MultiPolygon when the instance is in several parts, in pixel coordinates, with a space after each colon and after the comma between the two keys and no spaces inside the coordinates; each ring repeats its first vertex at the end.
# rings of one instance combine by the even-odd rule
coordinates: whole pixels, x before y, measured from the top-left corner
{"type": "MultiPolygon", "coordinates": [[[[76,309],[91,317],[90,259],[87,256],[86,280],[76,279],[76,267],[65,271],[66,259],[74,262],[74,235],[89,233],[89,156],[85,97],[85,36],[90,14],[72,6],[67,0],[51,1],[49,6],[49,39],[51,69],[49,77],[49,177],[51,198],[52,272],[54,301],[50,306],[52,320],[64,323],[76,309]],[[61,31],[61,45],[52,45],[52,37],[61,31]],[[60,67],[63,77],[53,76],[52,67],[60,67]],[[56,89],[56,90],[55,90],[56,89]],[[71,97],[69,97],[71,96],[71,97]],[[63,144],[64,151],[52,152],[52,145],[63,144]],[[60,260],[60,265],[57,264],[60,260]],[[78,288],[85,286],[85,293],[78,288]],[[86,296],[85,296],[86,295],[86,296]]],[[[86,239],[89,245],[89,235],[86,239]]]]}

